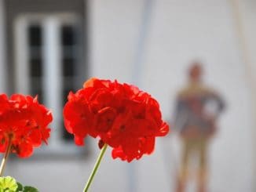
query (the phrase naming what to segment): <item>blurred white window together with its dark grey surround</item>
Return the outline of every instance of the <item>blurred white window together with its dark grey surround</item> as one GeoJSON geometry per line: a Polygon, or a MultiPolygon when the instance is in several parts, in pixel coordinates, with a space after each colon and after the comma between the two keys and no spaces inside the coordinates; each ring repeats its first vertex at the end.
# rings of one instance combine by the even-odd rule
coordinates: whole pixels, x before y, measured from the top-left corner
{"type": "Polygon", "coordinates": [[[38,95],[53,111],[50,145],[36,154],[85,154],[87,147],[75,147],[62,118],[68,92],[79,89],[87,74],[85,1],[21,2],[5,1],[7,67],[13,74],[8,79],[9,93],[38,95]]]}

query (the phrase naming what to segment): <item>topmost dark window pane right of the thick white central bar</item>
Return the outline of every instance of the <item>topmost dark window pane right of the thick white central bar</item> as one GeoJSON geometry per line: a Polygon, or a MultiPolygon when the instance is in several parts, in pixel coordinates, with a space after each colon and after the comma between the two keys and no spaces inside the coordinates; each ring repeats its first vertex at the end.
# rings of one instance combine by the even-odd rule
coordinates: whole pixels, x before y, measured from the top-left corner
{"type": "Polygon", "coordinates": [[[63,26],[61,28],[62,45],[75,45],[75,28],[72,26],[63,26]]]}

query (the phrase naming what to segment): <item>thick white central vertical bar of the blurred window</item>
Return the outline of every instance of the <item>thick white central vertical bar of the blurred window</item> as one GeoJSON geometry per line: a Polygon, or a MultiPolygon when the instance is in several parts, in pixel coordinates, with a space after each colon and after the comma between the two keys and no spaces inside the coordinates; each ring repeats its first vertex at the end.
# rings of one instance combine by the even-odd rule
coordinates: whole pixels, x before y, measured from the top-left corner
{"type": "Polygon", "coordinates": [[[43,92],[46,106],[53,111],[50,143],[53,147],[60,144],[60,121],[62,119],[62,74],[60,52],[60,22],[49,17],[43,22],[43,92]]]}

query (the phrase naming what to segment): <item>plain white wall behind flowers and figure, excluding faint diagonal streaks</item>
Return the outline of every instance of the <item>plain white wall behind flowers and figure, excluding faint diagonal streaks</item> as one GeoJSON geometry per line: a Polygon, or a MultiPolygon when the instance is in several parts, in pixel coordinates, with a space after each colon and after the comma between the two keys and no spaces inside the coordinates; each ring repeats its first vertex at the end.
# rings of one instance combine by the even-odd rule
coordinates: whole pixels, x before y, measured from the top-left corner
{"type": "MultiPolygon", "coordinates": [[[[142,0],[90,0],[92,76],[133,82],[143,5],[142,0]]],[[[254,1],[243,1],[251,55],[256,45],[252,32],[256,25],[255,9],[254,1]]],[[[175,96],[185,84],[185,70],[191,60],[205,63],[205,81],[226,100],[227,109],[210,150],[210,191],[254,191],[251,89],[229,1],[155,0],[147,35],[141,56],[140,87],[159,100],[166,120],[172,118],[175,96]]],[[[137,169],[137,191],[174,190],[180,148],[177,136],[173,133],[156,142],[154,154],[133,163],[137,169]]],[[[96,142],[92,143],[96,149],[96,142]]],[[[20,163],[9,164],[6,172],[42,191],[81,191],[96,151],[84,163],[19,160],[20,163]],[[46,183],[53,183],[50,190],[46,183]]],[[[113,161],[109,152],[92,191],[130,191],[128,165],[113,161]]]]}

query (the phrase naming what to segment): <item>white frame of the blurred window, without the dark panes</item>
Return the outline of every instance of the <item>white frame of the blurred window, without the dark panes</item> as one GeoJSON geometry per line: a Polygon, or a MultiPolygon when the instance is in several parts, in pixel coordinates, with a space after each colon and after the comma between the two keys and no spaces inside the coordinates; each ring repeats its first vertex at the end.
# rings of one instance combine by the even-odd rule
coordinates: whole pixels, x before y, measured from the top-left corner
{"type": "Polygon", "coordinates": [[[31,24],[40,24],[42,27],[42,90],[44,104],[53,112],[53,122],[50,125],[49,146],[40,147],[35,153],[72,155],[87,151],[85,147],[76,147],[74,142],[64,141],[63,130],[57,125],[63,117],[60,27],[64,24],[82,26],[82,19],[75,13],[24,14],[18,16],[13,24],[15,90],[23,94],[31,93],[27,27],[31,24]]]}

